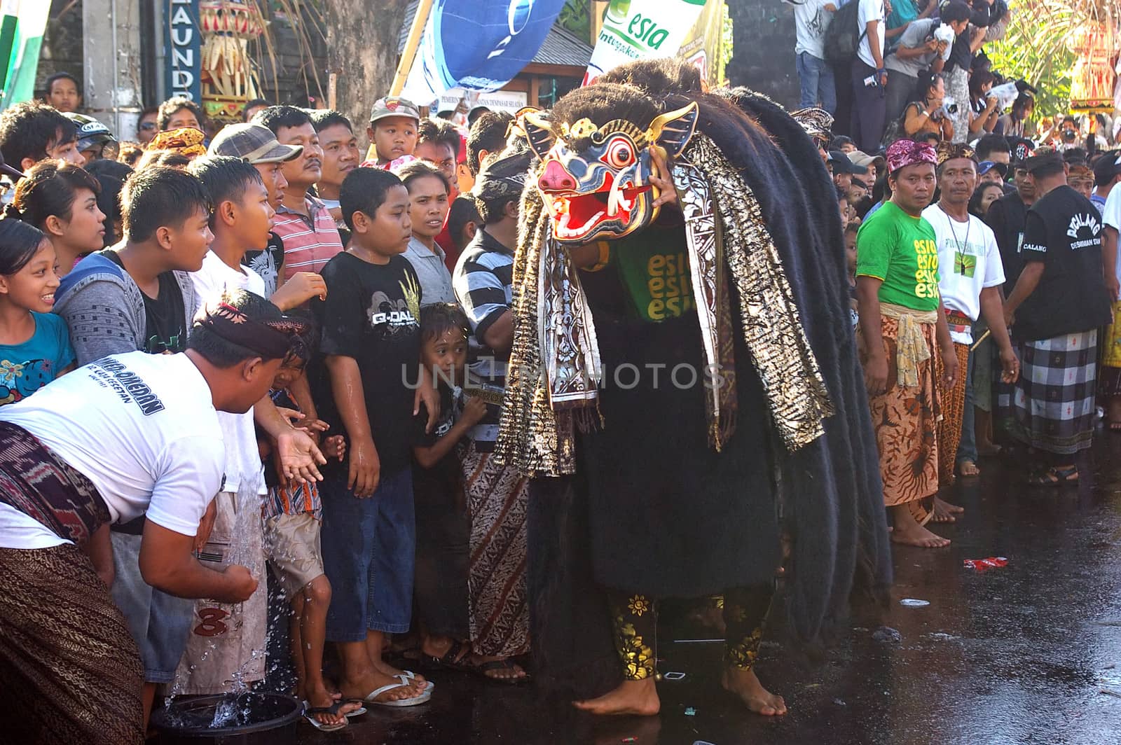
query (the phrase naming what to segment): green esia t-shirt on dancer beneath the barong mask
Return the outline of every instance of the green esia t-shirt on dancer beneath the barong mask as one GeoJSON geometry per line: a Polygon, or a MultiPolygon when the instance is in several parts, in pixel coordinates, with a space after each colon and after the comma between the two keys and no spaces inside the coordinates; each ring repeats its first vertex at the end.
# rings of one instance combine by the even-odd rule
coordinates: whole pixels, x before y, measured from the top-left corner
{"type": "Polygon", "coordinates": [[[650,227],[610,241],[613,266],[639,318],[658,323],[696,311],[685,227],[650,227]]]}

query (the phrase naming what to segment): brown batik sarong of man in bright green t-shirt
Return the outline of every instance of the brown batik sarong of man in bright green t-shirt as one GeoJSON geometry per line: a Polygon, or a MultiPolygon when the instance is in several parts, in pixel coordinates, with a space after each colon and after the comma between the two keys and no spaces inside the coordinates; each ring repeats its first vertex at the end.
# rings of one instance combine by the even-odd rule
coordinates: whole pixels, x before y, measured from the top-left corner
{"type": "MultiPolygon", "coordinates": [[[[888,389],[869,395],[876,444],[880,451],[883,503],[898,506],[933,496],[938,491],[938,419],[942,416],[937,379],[942,362],[935,324],[917,324],[928,356],[915,363],[916,384],[899,382],[900,319],[883,316],[883,350],[888,357],[888,389]]],[[[858,336],[861,361],[868,361],[863,336],[858,336]]],[[[953,456],[951,456],[951,460],[953,456]]],[[[928,516],[927,516],[928,519],[928,516]]]]}

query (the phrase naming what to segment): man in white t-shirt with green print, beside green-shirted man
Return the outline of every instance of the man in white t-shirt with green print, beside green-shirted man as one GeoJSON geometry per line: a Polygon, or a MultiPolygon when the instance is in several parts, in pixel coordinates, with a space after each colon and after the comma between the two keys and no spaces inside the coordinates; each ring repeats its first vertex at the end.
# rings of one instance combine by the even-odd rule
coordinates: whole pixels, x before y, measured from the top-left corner
{"type": "MultiPolygon", "coordinates": [[[[937,203],[923,211],[923,217],[934,227],[938,243],[938,289],[946,308],[949,336],[957,353],[958,370],[971,371],[970,346],[973,323],[979,318],[989,330],[1000,353],[1006,380],[1019,374],[1019,361],[1012,351],[1004,325],[1000,286],[1004,268],[992,230],[969,212],[970,197],[978,183],[978,164],[973,150],[964,145],[942,142],[938,146],[937,203]]],[[[976,476],[976,438],[973,432],[973,401],[970,394],[972,374],[957,375],[951,389],[943,390],[943,421],[938,437],[941,487],[954,481],[955,464],[962,476],[976,476]],[[943,457],[944,456],[944,457],[943,457]]],[[[962,507],[935,496],[935,522],[953,522],[962,507]]]]}

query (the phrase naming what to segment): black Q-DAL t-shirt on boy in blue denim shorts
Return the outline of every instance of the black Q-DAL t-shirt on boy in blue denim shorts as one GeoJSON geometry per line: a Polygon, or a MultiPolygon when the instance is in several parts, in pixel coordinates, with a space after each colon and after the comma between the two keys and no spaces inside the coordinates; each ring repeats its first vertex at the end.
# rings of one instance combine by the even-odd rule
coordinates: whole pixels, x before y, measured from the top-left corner
{"type": "MultiPolygon", "coordinates": [[[[420,372],[420,282],[400,255],[387,264],[372,264],[343,252],[321,273],[327,299],[314,306],[323,329],[319,350],[358,362],[381,473],[391,476],[407,468],[411,458],[413,400],[420,372]]],[[[345,434],[325,371],[319,385],[323,395],[316,401],[326,403],[323,413],[332,431],[345,434]]]]}

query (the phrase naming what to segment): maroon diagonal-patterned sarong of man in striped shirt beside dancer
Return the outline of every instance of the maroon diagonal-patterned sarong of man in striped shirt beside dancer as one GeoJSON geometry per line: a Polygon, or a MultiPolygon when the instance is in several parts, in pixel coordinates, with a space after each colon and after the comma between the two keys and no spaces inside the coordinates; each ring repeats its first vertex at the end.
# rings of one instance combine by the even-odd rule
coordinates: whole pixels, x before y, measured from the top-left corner
{"type": "Polygon", "coordinates": [[[512,656],[529,650],[526,600],[526,515],[529,479],[501,466],[475,443],[463,458],[471,518],[467,587],[471,645],[476,654],[512,656]]]}

